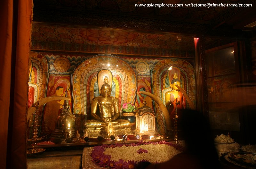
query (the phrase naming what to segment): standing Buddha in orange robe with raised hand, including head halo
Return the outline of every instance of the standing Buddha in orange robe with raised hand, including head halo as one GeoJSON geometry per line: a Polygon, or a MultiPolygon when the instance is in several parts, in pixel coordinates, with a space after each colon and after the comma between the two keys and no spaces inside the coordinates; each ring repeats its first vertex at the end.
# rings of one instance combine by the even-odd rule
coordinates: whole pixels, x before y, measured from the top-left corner
{"type": "Polygon", "coordinates": [[[164,95],[165,105],[169,111],[171,119],[175,117],[175,110],[186,108],[186,98],[183,93],[176,87],[180,86],[180,69],[170,67],[168,70],[168,78],[171,91],[167,91],[164,95]]]}

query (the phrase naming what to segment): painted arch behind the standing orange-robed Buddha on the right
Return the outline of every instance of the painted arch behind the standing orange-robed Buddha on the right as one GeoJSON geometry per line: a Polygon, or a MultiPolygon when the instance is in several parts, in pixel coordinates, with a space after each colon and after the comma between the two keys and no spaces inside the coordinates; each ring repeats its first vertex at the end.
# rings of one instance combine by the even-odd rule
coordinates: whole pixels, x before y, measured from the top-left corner
{"type": "MultiPolygon", "coordinates": [[[[180,69],[180,87],[183,88],[191,101],[196,105],[196,88],[195,88],[195,73],[194,67],[185,60],[180,59],[163,59],[159,60],[152,69],[152,91],[163,103],[164,92],[170,91],[170,83],[167,71],[169,67],[180,69]]],[[[156,118],[161,133],[166,133],[163,112],[155,104],[156,118]]],[[[189,105],[187,103],[187,108],[189,105]]]]}

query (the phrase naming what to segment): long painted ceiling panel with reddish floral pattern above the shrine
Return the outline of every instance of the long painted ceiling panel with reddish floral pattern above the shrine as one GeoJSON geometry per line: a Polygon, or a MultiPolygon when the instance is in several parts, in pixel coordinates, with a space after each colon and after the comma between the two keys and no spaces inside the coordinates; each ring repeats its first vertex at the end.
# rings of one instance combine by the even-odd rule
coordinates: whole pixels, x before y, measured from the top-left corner
{"type": "Polygon", "coordinates": [[[70,28],[33,24],[32,40],[113,46],[134,46],[173,50],[194,50],[189,36],[150,34],[104,29],[70,28]]]}

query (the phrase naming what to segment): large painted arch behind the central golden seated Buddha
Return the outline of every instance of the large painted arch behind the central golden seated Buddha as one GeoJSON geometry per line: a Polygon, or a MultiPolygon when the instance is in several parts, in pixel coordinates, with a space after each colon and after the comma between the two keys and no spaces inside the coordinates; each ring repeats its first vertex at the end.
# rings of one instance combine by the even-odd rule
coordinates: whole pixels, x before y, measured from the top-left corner
{"type": "MultiPolygon", "coordinates": [[[[100,70],[112,72],[111,96],[119,99],[119,109],[126,102],[135,102],[137,76],[132,67],[121,58],[97,55],[81,62],[72,74],[73,112],[76,126],[90,119],[92,99],[99,96],[97,74],[100,70]],[[109,65],[108,65],[109,64],[109,65]]],[[[121,116],[121,115],[120,115],[121,116]]]]}

